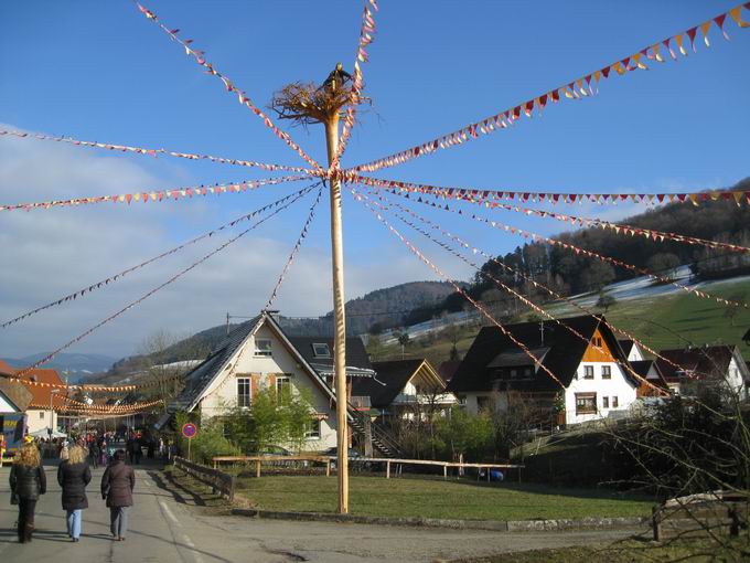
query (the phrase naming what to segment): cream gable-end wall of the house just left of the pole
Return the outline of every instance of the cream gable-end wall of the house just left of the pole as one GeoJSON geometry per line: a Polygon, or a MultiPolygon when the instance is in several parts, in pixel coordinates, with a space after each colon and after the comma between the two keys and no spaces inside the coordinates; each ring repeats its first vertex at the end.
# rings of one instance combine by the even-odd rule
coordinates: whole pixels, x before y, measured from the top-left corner
{"type": "Polygon", "coordinates": [[[274,331],[267,326],[247,339],[239,348],[229,365],[237,365],[234,370],[225,369],[222,375],[208,387],[201,401],[201,416],[210,418],[221,415],[227,406],[237,404],[237,380],[257,376],[257,389],[269,385],[271,376],[289,376],[292,393],[309,390],[312,407],[317,413],[324,413],[326,418],[320,421],[320,437],[311,437],[302,446],[304,450],[322,452],[336,445],[335,405],[330,405],[329,396],[323,393],[311,375],[302,368],[274,331]],[[270,355],[256,354],[256,340],[270,340],[270,355]],[[231,374],[231,375],[229,375],[231,374]]]}

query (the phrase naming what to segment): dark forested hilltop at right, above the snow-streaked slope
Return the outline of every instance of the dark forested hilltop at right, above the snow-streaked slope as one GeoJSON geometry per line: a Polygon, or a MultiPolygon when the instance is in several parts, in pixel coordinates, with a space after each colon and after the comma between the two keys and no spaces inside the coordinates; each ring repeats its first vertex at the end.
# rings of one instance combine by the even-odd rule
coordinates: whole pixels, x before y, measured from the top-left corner
{"type": "MultiPolygon", "coordinates": [[[[739,182],[732,190],[749,191],[750,178],[739,182]]],[[[744,201],[740,205],[733,200],[707,201],[699,205],[672,203],[617,223],[750,246],[750,205],[744,201]]],[[[704,279],[750,273],[750,256],[747,254],[712,251],[677,242],[654,242],[643,236],[618,234],[598,227],[566,232],[554,238],[658,272],[664,277],[669,277],[676,266],[685,264],[690,265],[694,274],[704,279]]],[[[546,243],[525,244],[500,258],[564,295],[596,291],[611,282],[639,275],[546,243]]],[[[508,275],[492,262],[485,263],[482,269],[507,285],[524,287],[525,291],[534,293],[534,288],[525,287],[527,284],[523,279],[508,275]]],[[[494,288],[494,283],[478,274],[472,280],[470,294],[485,300],[505,299],[494,288]]],[[[463,304],[464,299],[453,294],[446,300],[442,309],[459,310],[463,304]]]]}

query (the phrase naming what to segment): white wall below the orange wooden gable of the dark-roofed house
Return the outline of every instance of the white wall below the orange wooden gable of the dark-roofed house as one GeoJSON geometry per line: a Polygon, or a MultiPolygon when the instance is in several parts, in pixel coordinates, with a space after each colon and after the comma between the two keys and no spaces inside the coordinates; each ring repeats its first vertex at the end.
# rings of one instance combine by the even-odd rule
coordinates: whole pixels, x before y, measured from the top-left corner
{"type": "Polygon", "coordinates": [[[574,379],[565,390],[566,424],[606,418],[613,411],[626,411],[635,401],[638,385],[631,383],[614,362],[582,362],[577,374],[578,379],[574,379]],[[593,368],[593,379],[585,379],[587,365],[593,368]],[[602,378],[604,367],[610,368],[610,379],[602,378]],[[577,397],[586,393],[594,393],[596,412],[583,414],[577,408],[577,397]]]}

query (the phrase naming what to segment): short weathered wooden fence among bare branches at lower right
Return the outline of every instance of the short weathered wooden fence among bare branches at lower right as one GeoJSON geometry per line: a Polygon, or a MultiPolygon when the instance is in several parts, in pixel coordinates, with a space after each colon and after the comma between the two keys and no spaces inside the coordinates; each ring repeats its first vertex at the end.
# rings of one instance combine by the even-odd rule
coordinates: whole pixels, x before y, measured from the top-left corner
{"type": "Polygon", "coordinates": [[[671,499],[652,509],[654,541],[707,534],[739,535],[748,527],[750,496],[722,491],[671,499]]]}

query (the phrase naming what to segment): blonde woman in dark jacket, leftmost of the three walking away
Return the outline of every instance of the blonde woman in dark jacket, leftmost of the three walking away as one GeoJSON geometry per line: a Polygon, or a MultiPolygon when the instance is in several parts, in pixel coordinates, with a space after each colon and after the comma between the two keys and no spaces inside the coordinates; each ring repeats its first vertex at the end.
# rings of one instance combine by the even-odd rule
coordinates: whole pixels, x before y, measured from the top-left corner
{"type": "Polygon", "coordinates": [[[10,469],[10,490],[19,503],[19,542],[30,543],[36,501],[46,492],[46,475],[34,444],[24,444],[15,455],[10,469]]]}

